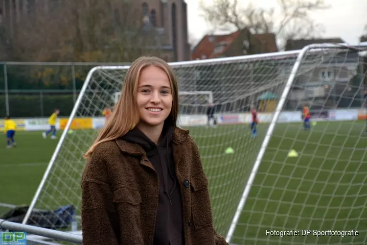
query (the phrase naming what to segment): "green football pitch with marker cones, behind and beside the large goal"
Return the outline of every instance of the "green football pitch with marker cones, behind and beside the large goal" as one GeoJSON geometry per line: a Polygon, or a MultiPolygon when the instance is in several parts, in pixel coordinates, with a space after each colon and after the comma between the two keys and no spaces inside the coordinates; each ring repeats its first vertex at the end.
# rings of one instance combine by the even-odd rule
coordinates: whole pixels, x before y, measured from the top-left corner
{"type": "MultiPolygon", "coordinates": [[[[192,127],[209,178],[214,221],[225,236],[267,124],[252,139],[249,125],[192,127]],[[227,147],[233,154],[223,154],[227,147]],[[231,164],[226,165],[230,162],[231,164]],[[214,164],[213,164],[214,163],[214,164]],[[233,168],[244,165],[243,168],[233,168]],[[227,166],[227,168],[226,168],[227,166]],[[242,170],[239,171],[239,170],[242,170]],[[221,195],[221,193],[223,195],[221,195]],[[227,193],[227,194],[225,194],[227,193]],[[228,203],[228,196],[232,201],[228,203]],[[221,196],[225,196],[226,199],[221,196]],[[227,211],[226,211],[227,210],[227,211]],[[221,215],[222,214],[222,215],[221,215]]],[[[364,244],[367,237],[367,136],[365,122],[276,125],[239,219],[236,244],[364,244]],[[297,157],[288,157],[294,149],[297,157]],[[266,230],[356,230],[358,236],[270,236],[266,230]]],[[[78,132],[75,132],[76,134],[78,132]]],[[[61,131],[57,136],[60,137],[61,131]]],[[[0,203],[29,205],[57,145],[41,132],[17,132],[18,147],[0,144],[0,203]]],[[[0,214],[8,208],[0,205],[0,214]]]]}

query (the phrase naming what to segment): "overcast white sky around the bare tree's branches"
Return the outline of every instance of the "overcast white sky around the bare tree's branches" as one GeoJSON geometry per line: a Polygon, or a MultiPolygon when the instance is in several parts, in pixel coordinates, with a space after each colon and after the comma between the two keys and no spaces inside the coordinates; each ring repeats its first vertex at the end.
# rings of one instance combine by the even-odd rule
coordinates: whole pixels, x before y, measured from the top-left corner
{"type": "MultiPolygon", "coordinates": [[[[199,0],[185,0],[190,40],[199,41],[208,31],[210,25],[200,16],[199,0]]],[[[213,0],[205,0],[213,2],[213,0]]],[[[254,2],[261,6],[275,6],[276,0],[243,0],[244,4],[254,2]]],[[[349,44],[358,44],[367,25],[367,0],[325,0],[330,5],[328,10],[313,13],[311,16],[324,26],[322,37],[341,37],[349,44]]],[[[196,43],[195,43],[196,44],[196,43]]]]}

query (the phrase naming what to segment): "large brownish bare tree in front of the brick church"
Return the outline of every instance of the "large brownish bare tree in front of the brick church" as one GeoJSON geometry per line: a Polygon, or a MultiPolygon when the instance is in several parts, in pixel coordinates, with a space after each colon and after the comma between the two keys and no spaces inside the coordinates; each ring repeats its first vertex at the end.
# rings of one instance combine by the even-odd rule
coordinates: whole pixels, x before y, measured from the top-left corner
{"type": "Polygon", "coordinates": [[[160,55],[159,33],[143,30],[142,13],[131,1],[48,2],[17,22],[11,42],[16,60],[131,62],[160,55]]]}

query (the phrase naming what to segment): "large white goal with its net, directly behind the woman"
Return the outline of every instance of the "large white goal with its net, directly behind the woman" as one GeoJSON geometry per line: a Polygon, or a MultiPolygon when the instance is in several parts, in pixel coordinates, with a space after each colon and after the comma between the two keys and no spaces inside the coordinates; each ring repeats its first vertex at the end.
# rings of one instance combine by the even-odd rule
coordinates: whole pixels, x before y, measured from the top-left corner
{"type": "MultiPolygon", "coordinates": [[[[171,66],[179,79],[180,126],[200,149],[219,234],[241,245],[366,244],[366,57],[330,44],[171,66]],[[207,124],[210,103],[215,127],[207,124]],[[302,123],[303,104],[310,128],[302,123]]],[[[23,223],[38,222],[31,211],[68,204],[80,216],[82,154],[128,68],[90,71],[23,223]],[[91,128],[69,132],[78,120],[90,120],[91,128]]]]}

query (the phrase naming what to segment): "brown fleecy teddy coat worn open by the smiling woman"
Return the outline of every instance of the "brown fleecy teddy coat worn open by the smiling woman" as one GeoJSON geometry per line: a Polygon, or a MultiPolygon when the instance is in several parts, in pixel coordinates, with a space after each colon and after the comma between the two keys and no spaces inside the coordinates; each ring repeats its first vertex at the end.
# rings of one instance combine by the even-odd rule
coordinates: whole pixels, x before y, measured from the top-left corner
{"type": "MultiPolygon", "coordinates": [[[[228,245],[214,230],[208,180],[188,130],[175,128],[172,150],[185,245],[228,245]]],[[[139,145],[118,139],[97,146],[82,177],[83,245],[152,245],[158,181],[139,145]]]]}

